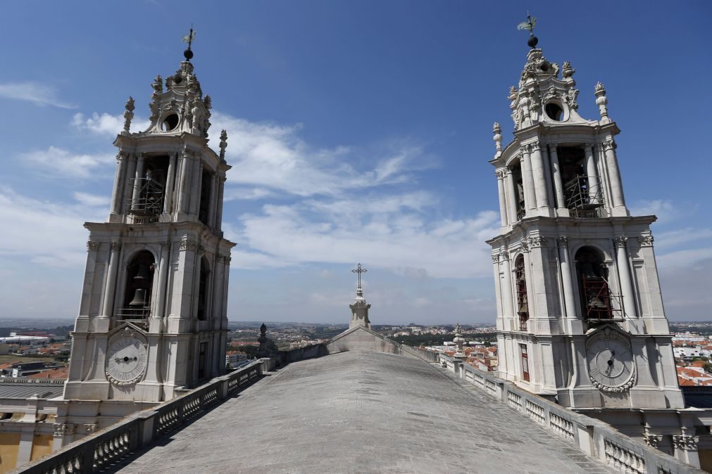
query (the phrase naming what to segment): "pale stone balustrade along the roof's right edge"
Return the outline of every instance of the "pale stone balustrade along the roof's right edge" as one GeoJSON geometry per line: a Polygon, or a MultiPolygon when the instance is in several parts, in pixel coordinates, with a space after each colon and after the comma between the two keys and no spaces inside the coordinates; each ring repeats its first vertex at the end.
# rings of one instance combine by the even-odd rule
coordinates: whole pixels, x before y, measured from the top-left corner
{"type": "Polygon", "coordinates": [[[442,367],[486,394],[508,404],[557,436],[575,443],[588,456],[622,473],[687,474],[702,470],[625,436],[603,421],[585,416],[520,389],[515,384],[440,354],[442,367]]]}

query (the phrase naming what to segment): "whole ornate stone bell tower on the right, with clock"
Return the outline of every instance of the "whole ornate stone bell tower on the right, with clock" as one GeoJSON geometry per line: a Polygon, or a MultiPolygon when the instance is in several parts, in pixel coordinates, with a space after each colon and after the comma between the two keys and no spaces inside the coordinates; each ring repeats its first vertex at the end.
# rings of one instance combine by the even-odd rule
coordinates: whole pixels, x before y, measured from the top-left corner
{"type": "Polygon", "coordinates": [[[503,146],[495,124],[490,161],[501,376],[572,408],[682,408],[656,217],[629,215],[606,91],[594,90],[600,117],[581,117],[570,63],[548,61],[533,35],[529,45],[508,96],[513,139],[503,146]]]}

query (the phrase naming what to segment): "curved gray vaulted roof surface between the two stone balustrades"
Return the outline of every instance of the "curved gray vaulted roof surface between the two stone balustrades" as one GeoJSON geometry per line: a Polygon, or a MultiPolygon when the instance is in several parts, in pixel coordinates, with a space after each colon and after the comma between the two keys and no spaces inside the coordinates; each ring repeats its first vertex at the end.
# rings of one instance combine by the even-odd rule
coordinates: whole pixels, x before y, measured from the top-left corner
{"type": "Polygon", "coordinates": [[[351,351],[271,372],[120,473],[607,473],[422,360],[351,351]]]}

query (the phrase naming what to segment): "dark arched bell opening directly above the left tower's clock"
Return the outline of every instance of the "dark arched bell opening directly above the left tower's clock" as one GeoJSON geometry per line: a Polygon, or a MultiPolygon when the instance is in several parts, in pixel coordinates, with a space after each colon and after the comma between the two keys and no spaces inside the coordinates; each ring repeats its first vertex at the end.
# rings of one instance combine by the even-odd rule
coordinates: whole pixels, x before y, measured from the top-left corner
{"type": "Polygon", "coordinates": [[[126,285],[122,307],[118,316],[122,319],[145,319],[151,313],[153,254],[142,250],[134,255],[126,268],[126,285]]]}

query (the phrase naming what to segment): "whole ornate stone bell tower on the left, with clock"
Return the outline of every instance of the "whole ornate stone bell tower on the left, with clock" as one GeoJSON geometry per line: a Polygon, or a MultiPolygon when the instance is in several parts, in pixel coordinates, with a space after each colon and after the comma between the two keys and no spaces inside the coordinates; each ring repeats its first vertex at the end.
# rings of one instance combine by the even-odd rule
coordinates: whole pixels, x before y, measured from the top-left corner
{"type": "Polygon", "coordinates": [[[147,130],[130,131],[127,102],[108,221],[85,224],[66,400],[162,402],[225,371],[227,136],[219,153],[209,148],[211,102],[190,62],[192,33],[188,41],[165,87],[160,76],[152,84],[147,130]]]}

